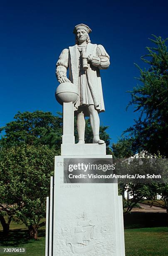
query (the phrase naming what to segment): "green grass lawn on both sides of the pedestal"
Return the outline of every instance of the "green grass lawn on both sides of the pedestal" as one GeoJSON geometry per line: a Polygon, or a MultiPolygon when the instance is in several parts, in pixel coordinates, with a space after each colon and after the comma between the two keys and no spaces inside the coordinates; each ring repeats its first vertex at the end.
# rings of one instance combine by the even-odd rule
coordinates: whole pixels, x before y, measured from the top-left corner
{"type": "MultiPolygon", "coordinates": [[[[44,220],[42,220],[44,221],[44,220]]],[[[1,226],[0,226],[0,230],[1,226]]],[[[168,255],[168,228],[128,228],[125,232],[126,256],[167,256],[168,255]]],[[[25,225],[11,223],[7,238],[0,231],[0,247],[25,247],[26,254],[10,253],[2,256],[44,256],[45,255],[45,227],[39,229],[37,241],[28,239],[25,225]]],[[[61,255],[60,255],[61,256],[61,255]]]]}

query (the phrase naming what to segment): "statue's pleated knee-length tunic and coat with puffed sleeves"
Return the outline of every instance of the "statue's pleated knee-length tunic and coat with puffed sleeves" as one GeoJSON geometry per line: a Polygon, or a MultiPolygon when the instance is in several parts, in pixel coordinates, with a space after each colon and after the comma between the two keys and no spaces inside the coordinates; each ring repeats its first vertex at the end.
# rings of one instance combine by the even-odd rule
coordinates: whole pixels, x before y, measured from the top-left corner
{"type": "MultiPolygon", "coordinates": [[[[87,46],[70,46],[64,49],[57,61],[57,78],[67,76],[69,67],[69,80],[76,84],[79,89],[79,98],[74,105],[77,111],[79,106],[94,105],[98,113],[104,111],[104,100],[101,87],[101,78],[99,69],[107,69],[110,65],[109,55],[101,45],[88,43],[87,46]],[[86,53],[92,56],[88,63],[88,69],[84,70],[80,53],[82,48],[86,49],[86,53]]],[[[87,108],[83,108],[86,116],[87,108]]]]}

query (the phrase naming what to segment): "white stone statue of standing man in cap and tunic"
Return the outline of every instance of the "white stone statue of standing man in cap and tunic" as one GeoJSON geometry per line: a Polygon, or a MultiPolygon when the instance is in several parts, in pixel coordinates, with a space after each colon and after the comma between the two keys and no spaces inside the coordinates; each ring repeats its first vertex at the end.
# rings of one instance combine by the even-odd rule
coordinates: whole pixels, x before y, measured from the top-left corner
{"type": "Polygon", "coordinates": [[[78,143],[84,144],[85,117],[89,116],[93,143],[103,144],[104,141],[99,138],[99,113],[104,112],[99,69],[107,69],[110,58],[102,45],[90,43],[90,32],[91,29],[84,24],[75,26],[73,33],[76,35],[76,44],[62,51],[57,61],[56,76],[58,82],[72,82],[79,90],[78,100],[74,104],[78,143]]]}

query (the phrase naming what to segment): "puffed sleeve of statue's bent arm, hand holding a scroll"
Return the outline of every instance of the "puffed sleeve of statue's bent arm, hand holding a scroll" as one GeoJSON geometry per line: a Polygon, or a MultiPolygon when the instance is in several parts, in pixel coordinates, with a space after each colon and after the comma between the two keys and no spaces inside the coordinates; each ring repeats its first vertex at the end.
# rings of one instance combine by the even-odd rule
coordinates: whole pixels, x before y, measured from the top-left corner
{"type": "Polygon", "coordinates": [[[101,44],[97,46],[96,56],[92,57],[91,63],[99,69],[108,69],[110,65],[110,56],[101,44]]]}

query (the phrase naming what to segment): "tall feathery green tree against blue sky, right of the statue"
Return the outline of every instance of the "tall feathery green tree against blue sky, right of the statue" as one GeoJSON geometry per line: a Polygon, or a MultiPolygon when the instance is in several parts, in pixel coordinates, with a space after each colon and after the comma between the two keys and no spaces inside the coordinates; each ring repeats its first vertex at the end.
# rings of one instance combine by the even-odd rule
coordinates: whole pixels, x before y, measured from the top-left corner
{"type": "MultiPolygon", "coordinates": [[[[154,35],[153,35],[154,36],[154,35]]],[[[160,36],[150,39],[156,47],[146,47],[148,54],[141,60],[149,64],[148,69],[140,70],[138,79],[141,84],[134,87],[129,105],[140,111],[140,117],[135,124],[125,131],[128,141],[133,141],[132,150],[146,150],[152,154],[157,151],[167,155],[168,130],[168,52],[166,40],[160,36]],[[149,58],[149,59],[148,59],[149,58]]]]}

